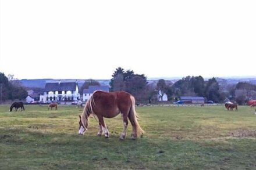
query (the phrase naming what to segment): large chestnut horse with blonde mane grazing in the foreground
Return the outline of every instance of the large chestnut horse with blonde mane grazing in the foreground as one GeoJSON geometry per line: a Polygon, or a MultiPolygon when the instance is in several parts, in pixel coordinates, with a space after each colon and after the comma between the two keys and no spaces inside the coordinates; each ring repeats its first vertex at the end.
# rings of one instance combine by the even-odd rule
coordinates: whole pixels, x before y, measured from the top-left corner
{"type": "Polygon", "coordinates": [[[137,113],[135,111],[135,99],[130,93],[95,91],[90,99],[87,100],[83,113],[79,115],[79,134],[83,135],[85,133],[88,126],[88,117],[93,114],[94,116],[96,115],[99,120],[98,136],[101,136],[104,131],[105,138],[108,138],[109,132],[104,122],[104,117],[113,118],[119,113],[121,113],[123,119],[123,132],[119,139],[125,139],[128,118],[133,126],[131,139],[136,139],[139,133],[144,132],[138,124],[137,113]]]}

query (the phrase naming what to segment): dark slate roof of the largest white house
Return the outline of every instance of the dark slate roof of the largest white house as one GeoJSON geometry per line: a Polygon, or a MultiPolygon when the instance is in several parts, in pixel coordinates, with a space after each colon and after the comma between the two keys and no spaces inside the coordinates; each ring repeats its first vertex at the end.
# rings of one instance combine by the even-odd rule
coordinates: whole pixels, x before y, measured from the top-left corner
{"type": "Polygon", "coordinates": [[[48,82],[44,91],[76,91],[76,82],[48,82]]]}

